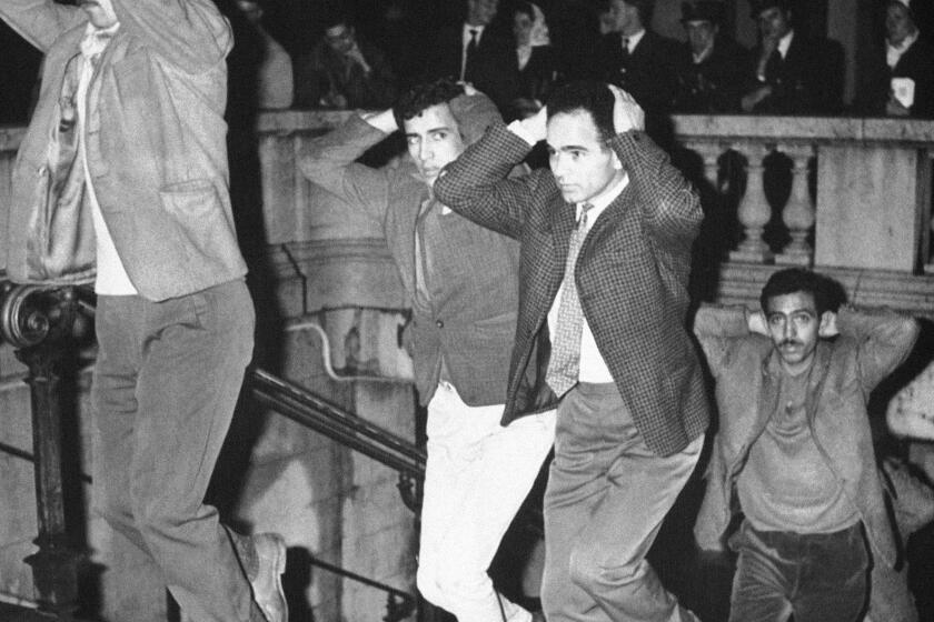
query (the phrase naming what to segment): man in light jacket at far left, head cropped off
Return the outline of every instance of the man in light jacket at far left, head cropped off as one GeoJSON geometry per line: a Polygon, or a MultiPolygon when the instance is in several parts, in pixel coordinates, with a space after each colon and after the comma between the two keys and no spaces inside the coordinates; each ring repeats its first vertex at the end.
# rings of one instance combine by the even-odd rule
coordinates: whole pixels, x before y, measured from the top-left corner
{"type": "MultiPolygon", "coordinates": [[[[205,492],[252,353],[209,0],[3,0],[46,54],[13,170],[7,269],[93,283],[93,502],[197,622],[285,622],[286,544],[205,492]]],[[[133,618],[138,612],[133,612],[133,618]]]]}

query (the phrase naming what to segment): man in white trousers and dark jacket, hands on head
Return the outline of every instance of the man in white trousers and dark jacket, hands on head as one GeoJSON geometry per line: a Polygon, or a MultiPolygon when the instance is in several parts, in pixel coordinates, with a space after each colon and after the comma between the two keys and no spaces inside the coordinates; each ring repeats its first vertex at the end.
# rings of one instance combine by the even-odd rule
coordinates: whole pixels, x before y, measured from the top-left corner
{"type": "Polygon", "coordinates": [[[351,117],[316,139],[300,167],[380,225],[413,308],[415,381],[428,408],[418,589],[464,622],[528,622],[487,574],[555,433],[547,403],[503,418],[519,248],[434,194],[443,168],[495,122],[487,97],[428,82],[394,109],[351,117]],[[408,144],[398,167],[356,162],[397,130],[408,144]]]}

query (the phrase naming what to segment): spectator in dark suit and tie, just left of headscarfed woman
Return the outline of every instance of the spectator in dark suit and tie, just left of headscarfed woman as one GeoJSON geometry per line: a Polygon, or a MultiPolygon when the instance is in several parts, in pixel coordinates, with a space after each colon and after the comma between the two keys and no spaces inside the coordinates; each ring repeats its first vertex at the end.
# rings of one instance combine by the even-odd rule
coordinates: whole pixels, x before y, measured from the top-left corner
{"type": "Polygon", "coordinates": [[[499,0],[466,1],[464,22],[439,29],[428,48],[425,79],[467,82],[508,111],[518,96],[518,68],[513,38],[494,26],[499,0]]]}

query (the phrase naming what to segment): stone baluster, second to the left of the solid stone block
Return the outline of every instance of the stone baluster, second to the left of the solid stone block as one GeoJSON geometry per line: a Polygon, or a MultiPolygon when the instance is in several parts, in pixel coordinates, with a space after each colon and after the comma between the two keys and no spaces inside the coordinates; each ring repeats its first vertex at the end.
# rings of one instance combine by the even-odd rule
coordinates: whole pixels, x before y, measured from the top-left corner
{"type": "Polygon", "coordinates": [[[746,157],[746,193],[739,202],[737,217],[743,225],[744,239],[739,247],[729,251],[731,261],[768,263],[773,259],[768,244],[762,239],[765,225],[772,218],[772,208],[763,188],[763,159],[768,152],[764,143],[737,144],[737,151],[746,157]]]}

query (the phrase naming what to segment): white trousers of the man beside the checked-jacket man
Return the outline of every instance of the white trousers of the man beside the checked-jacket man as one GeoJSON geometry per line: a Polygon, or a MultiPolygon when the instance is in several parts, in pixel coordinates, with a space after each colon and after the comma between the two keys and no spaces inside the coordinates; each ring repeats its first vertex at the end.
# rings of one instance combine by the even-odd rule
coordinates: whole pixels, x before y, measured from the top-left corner
{"type": "Polygon", "coordinates": [[[555,438],[555,411],[499,424],[503,405],[468,407],[441,382],[428,404],[418,589],[459,622],[527,622],[487,570],[555,438]]]}

